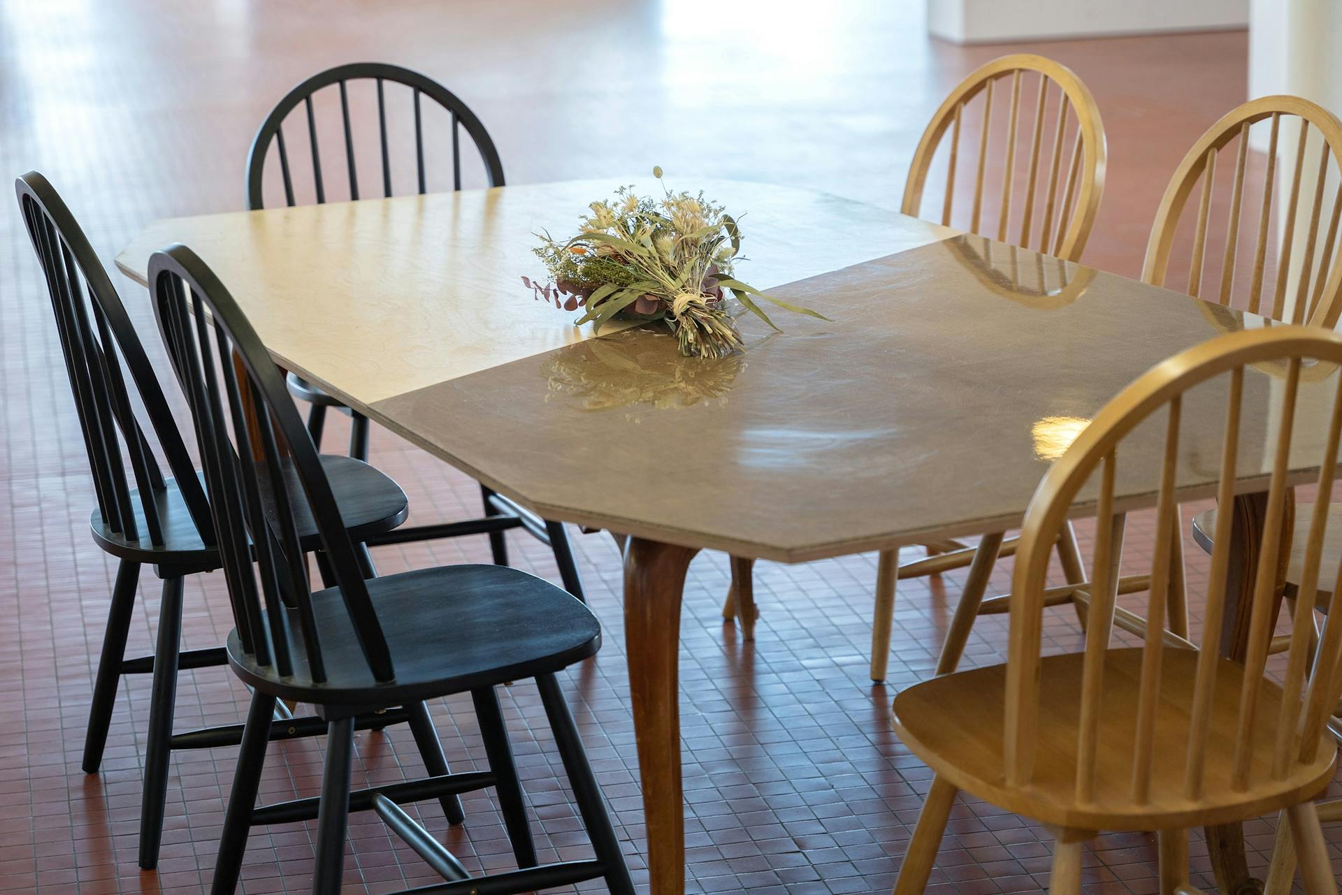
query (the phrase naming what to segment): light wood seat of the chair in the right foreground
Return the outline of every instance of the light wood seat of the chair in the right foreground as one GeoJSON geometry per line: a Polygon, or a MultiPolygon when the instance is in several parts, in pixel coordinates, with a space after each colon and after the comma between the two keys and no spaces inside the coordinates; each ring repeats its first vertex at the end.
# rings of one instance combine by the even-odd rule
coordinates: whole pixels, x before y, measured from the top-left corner
{"type": "MultiPolygon", "coordinates": [[[[1239,696],[1244,667],[1221,659],[1216,667],[1215,704],[1206,750],[1204,798],[1184,796],[1189,714],[1198,653],[1165,648],[1161,695],[1155,714],[1151,796],[1131,798],[1134,731],[1142,649],[1114,649],[1106,656],[1099,711],[1095,798],[1076,800],[1078,725],[1084,653],[1041,660],[1040,718],[1035,774],[1024,788],[1004,784],[1004,694],[1007,666],[933,678],[895,696],[894,725],[910,750],[964,789],[996,805],[1068,829],[1150,831],[1229,823],[1296,805],[1319,794],[1333,780],[1337,749],[1330,742],[1308,765],[1272,781],[1275,729],[1257,725],[1253,734],[1256,782],[1247,792],[1231,786],[1239,696]]],[[[1276,718],[1282,690],[1259,688],[1257,717],[1276,718]]]]}

